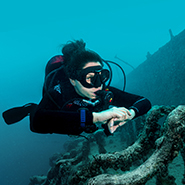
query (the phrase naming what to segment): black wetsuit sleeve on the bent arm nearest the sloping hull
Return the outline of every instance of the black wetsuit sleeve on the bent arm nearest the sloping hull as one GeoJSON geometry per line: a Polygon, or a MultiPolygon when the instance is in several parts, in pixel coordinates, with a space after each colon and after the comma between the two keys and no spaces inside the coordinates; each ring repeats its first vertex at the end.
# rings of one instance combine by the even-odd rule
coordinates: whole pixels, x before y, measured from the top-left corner
{"type": "Polygon", "coordinates": [[[136,114],[134,118],[146,114],[151,108],[151,103],[147,98],[124,92],[114,87],[109,87],[109,90],[114,94],[112,104],[117,107],[133,109],[136,114]]]}

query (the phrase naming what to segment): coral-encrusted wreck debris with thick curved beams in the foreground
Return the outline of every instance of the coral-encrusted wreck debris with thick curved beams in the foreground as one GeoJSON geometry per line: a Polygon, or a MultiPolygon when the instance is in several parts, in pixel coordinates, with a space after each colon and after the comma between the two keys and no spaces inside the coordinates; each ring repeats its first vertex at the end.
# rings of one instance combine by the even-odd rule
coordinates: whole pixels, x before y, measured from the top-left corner
{"type": "Polygon", "coordinates": [[[39,181],[40,176],[34,176],[34,183],[30,179],[30,185],[134,185],[145,184],[153,176],[157,176],[158,184],[175,184],[175,178],[168,174],[168,164],[182,148],[184,132],[185,106],[154,106],[146,115],[145,126],[138,140],[127,149],[115,153],[102,152],[90,160],[92,140],[84,141],[82,151],[76,157],[59,159],[44,182],[39,181]],[[161,127],[158,122],[165,115],[168,116],[161,127]],[[130,170],[134,161],[141,160],[151,151],[153,154],[142,165],[125,172],[130,170]],[[120,172],[116,175],[106,174],[108,169],[120,172]]]}

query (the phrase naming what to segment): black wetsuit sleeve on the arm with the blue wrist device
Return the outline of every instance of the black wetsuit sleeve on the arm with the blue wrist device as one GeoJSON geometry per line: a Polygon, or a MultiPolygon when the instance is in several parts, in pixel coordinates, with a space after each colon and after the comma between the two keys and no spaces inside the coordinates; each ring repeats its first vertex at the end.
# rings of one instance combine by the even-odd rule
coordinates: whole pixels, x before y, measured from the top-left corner
{"type": "MultiPolygon", "coordinates": [[[[30,129],[37,133],[59,133],[78,135],[84,130],[81,127],[79,112],[56,110],[52,103],[43,99],[30,118],[30,129]],[[50,105],[50,107],[48,107],[50,105]]],[[[93,124],[92,112],[86,112],[86,125],[93,124]]]]}

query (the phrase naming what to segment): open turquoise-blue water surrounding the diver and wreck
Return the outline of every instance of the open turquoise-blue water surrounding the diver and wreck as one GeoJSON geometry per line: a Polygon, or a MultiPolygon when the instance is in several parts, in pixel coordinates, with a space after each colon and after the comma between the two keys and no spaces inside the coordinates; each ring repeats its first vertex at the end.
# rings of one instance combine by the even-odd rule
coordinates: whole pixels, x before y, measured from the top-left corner
{"type": "MultiPolygon", "coordinates": [[[[68,40],[84,39],[87,48],[118,62],[126,74],[185,29],[185,1],[7,1],[0,3],[0,113],[42,95],[47,61],[68,40]]],[[[116,71],[117,69],[115,69],[116,71]]],[[[122,78],[114,71],[113,85],[122,78]]],[[[143,74],[145,75],[145,74],[143,74]]],[[[46,175],[49,158],[63,151],[68,136],[36,134],[29,120],[8,126],[0,117],[0,184],[26,185],[46,175]]]]}

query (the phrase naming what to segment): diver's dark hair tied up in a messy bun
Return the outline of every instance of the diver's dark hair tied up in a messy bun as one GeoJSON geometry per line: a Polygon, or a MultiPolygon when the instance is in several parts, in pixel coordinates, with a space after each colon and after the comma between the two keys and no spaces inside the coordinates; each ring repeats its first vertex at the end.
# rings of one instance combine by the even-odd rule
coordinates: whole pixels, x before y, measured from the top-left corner
{"type": "Polygon", "coordinates": [[[103,66],[101,57],[94,51],[87,50],[85,45],[83,40],[76,40],[70,41],[62,48],[65,71],[71,79],[76,79],[88,62],[100,62],[103,66]]]}

